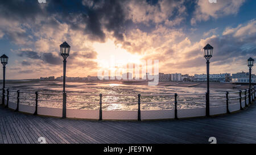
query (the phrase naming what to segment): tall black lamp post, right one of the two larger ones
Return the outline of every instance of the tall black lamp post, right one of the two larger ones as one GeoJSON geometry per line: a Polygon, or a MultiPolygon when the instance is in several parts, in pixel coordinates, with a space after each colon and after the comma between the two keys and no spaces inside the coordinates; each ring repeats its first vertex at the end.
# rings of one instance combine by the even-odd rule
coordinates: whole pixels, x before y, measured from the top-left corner
{"type": "Polygon", "coordinates": [[[210,116],[210,91],[209,91],[209,80],[210,80],[210,74],[209,74],[209,64],[210,64],[210,58],[212,57],[213,53],[213,47],[210,44],[207,44],[203,48],[203,54],[204,58],[207,60],[207,94],[206,94],[206,116],[210,116]]]}

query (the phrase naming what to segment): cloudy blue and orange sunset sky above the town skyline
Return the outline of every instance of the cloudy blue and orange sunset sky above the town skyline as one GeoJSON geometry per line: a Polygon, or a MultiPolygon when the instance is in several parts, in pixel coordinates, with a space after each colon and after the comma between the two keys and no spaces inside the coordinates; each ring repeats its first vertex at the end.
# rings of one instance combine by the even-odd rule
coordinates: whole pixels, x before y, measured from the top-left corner
{"type": "Polygon", "coordinates": [[[123,69],[151,59],[162,73],[200,74],[209,43],[210,73],[247,72],[247,58],[256,58],[255,8],[254,0],[1,1],[0,54],[9,56],[7,79],[61,76],[64,41],[68,77],[97,76],[113,59],[123,69]]]}

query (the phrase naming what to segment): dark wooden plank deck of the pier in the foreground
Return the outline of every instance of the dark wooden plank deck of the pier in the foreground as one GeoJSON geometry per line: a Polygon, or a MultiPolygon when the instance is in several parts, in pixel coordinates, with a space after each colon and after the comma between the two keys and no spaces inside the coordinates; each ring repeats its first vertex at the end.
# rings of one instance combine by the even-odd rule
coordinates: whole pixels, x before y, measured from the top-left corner
{"type": "Polygon", "coordinates": [[[158,121],[49,118],[0,106],[0,144],[46,143],[256,143],[256,104],[236,114],[158,121]]]}

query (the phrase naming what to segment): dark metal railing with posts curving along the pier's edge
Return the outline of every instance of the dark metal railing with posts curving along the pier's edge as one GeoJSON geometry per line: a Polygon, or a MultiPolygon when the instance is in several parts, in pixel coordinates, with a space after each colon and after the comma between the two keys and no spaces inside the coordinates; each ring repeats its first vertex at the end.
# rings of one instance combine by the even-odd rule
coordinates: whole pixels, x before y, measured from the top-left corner
{"type": "MultiPolygon", "coordinates": [[[[34,115],[38,115],[38,102],[39,101],[48,101],[48,102],[62,102],[60,100],[43,100],[43,99],[39,99],[39,94],[42,94],[42,95],[60,95],[60,93],[39,93],[38,91],[35,91],[35,93],[31,92],[31,91],[20,91],[20,90],[11,90],[11,89],[2,89],[0,91],[4,91],[3,95],[4,95],[4,98],[6,99],[6,106],[5,107],[9,107],[9,101],[10,101],[10,98],[16,98],[16,109],[15,111],[19,111],[19,104],[20,104],[20,94],[24,94],[24,93],[27,93],[27,94],[35,94],[35,98],[26,98],[28,100],[34,100],[35,101],[35,112],[34,112],[34,115]],[[13,95],[10,95],[10,92],[13,92],[13,93],[16,93],[16,97],[13,96],[13,95]]],[[[0,93],[2,94],[2,93],[0,93]]],[[[234,99],[239,99],[239,102],[240,102],[240,110],[243,110],[243,107],[242,107],[242,99],[245,100],[245,107],[248,107],[248,104],[246,102],[247,99],[252,99],[253,101],[255,100],[255,95],[256,95],[256,86],[253,86],[251,87],[251,96],[249,97],[249,89],[245,89],[245,90],[239,90],[239,91],[226,91],[225,93],[211,93],[211,95],[216,95],[216,94],[225,94],[225,99],[212,99],[210,100],[210,102],[214,102],[214,101],[224,101],[226,100],[226,114],[230,114],[230,111],[229,111],[229,100],[234,100],[234,99]],[[229,94],[234,94],[234,93],[237,93],[239,96],[238,97],[234,97],[234,98],[230,98],[229,97],[229,94]],[[242,93],[244,93],[244,95],[242,95],[242,93]]],[[[82,96],[99,96],[100,97],[100,102],[90,102],[90,103],[99,103],[99,120],[102,120],[102,98],[103,97],[106,97],[106,96],[114,96],[114,97],[122,97],[122,96],[125,96],[125,97],[138,97],[138,102],[127,102],[129,104],[138,104],[138,121],[141,120],[141,104],[144,104],[144,103],[147,103],[147,104],[165,104],[165,103],[174,103],[174,118],[175,119],[178,119],[177,117],[177,104],[178,104],[178,101],[177,101],[177,97],[178,96],[185,96],[185,95],[205,95],[206,97],[206,93],[205,94],[180,94],[178,95],[177,93],[175,94],[68,94],[70,96],[72,95],[82,95],[82,96]],[[171,97],[171,96],[174,96],[174,102],[141,102],[141,97],[148,97],[148,96],[168,96],[168,97],[171,97]]],[[[2,96],[1,96],[2,97],[2,96]]],[[[4,99],[4,102],[5,102],[5,99],[4,99]]],[[[191,101],[182,101],[182,102],[179,102],[179,103],[189,103],[189,102],[205,102],[206,100],[191,100],[191,101]]],[[[79,103],[79,102],[78,102],[79,103]]],[[[84,102],[81,102],[81,103],[84,103],[84,102]]],[[[125,103],[125,104],[127,104],[125,103]]],[[[252,103],[252,102],[251,102],[252,103]]],[[[5,104],[5,103],[2,103],[2,104],[5,104]]],[[[124,103],[119,103],[119,102],[104,102],[104,104],[124,104],[124,103]]]]}

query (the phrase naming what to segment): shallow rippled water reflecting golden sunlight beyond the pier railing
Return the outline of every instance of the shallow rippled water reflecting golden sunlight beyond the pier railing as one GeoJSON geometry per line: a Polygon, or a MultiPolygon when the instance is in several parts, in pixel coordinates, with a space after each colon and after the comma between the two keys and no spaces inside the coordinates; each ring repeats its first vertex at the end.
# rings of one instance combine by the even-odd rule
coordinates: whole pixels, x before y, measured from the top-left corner
{"type": "MultiPolygon", "coordinates": [[[[50,95],[39,94],[39,106],[44,107],[62,107],[62,82],[26,82],[26,83],[7,83],[9,89],[20,91],[39,91],[39,93],[50,93],[50,95]],[[51,94],[54,93],[54,94],[51,94]],[[59,93],[55,95],[56,93],[59,93]]],[[[196,100],[205,100],[205,95],[184,95],[179,94],[205,94],[205,89],[194,87],[175,87],[175,86],[145,86],[145,85],[123,85],[118,83],[84,83],[67,82],[67,107],[75,109],[98,109],[99,96],[85,96],[80,94],[170,94],[170,96],[151,96],[141,97],[141,110],[170,110],[174,108],[174,93],[178,94],[177,108],[199,108],[205,107],[205,102],[192,102],[196,100]],[[77,95],[69,95],[77,94],[77,95]],[[189,103],[181,103],[188,101],[189,103]],[[96,102],[96,103],[92,103],[96,102]],[[171,103],[145,103],[145,102],[171,102],[171,103]]],[[[210,90],[210,93],[220,93],[226,90],[210,90]]],[[[10,92],[11,102],[16,102],[16,93],[10,92]]],[[[230,94],[230,97],[238,97],[238,94],[230,94]]],[[[21,104],[35,104],[35,94],[20,93],[21,104]],[[32,99],[32,100],[31,100],[32,99]]],[[[210,99],[225,99],[225,94],[210,95],[210,99]]],[[[138,97],[116,97],[103,96],[103,110],[137,110],[138,97]],[[113,102],[118,102],[113,103],[113,102]],[[135,102],[135,104],[131,104],[135,102]],[[121,104],[122,103],[122,104],[121,104]]],[[[237,103],[238,100],[230,100],[230,104],[237,103]]],[[[225,105],[225,100],[221,102],[210,102],[210,106],[225,105]]]]}

